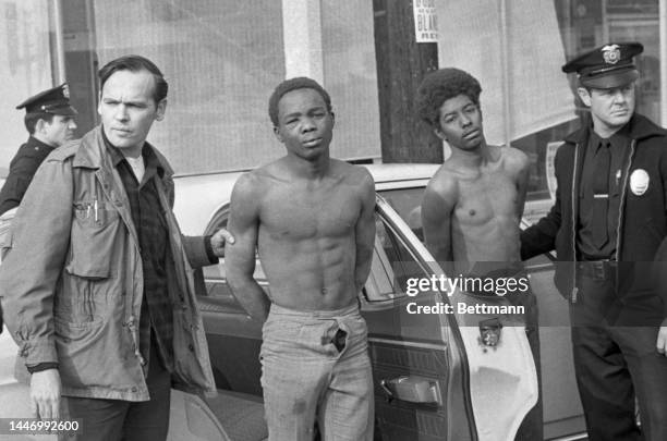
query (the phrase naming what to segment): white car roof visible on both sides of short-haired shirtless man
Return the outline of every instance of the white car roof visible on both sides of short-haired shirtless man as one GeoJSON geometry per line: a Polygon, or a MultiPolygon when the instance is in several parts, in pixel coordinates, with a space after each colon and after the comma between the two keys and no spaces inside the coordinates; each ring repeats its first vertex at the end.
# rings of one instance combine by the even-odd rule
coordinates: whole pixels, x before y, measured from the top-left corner
{"type": "MultiPolygon", "coordinates": [[[[424,186],[440,167],[433,163],[364,164],[377,191],[424,186]]],[[[234,183],[243,171],[210,172],[174,176],[173,211],[183,234],[202,234],[213,216],[229,204],[234,183]]]]}

